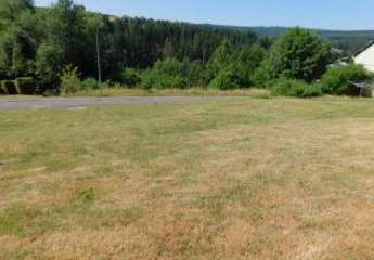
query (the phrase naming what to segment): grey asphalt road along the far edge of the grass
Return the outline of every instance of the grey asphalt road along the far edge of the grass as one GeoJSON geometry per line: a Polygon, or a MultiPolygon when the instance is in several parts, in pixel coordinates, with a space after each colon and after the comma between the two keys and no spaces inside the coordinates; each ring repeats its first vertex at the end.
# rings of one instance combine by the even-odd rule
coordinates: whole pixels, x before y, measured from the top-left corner
{"type": "Polygon", "coordinates": [[[0,109],[79,108],[103,105],[192,104],[240,101],[240,96],[120,96],[120,98],[31,98],[27,100],[0,100],[0,109]]]}

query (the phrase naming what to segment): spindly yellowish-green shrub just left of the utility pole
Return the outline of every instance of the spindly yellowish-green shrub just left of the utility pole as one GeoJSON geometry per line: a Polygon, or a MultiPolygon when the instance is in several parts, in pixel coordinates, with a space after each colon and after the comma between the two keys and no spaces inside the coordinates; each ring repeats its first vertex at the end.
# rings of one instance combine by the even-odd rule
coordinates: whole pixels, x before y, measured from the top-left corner
{"type": "Polygon", "coordinates": [[[79,91],[81,86],[79,77],[80,74],[78,73],[77,67],[74,67],[72,65],[65,66],[60,75],[60,91],[65,94],[75,93],[79,91]]]}

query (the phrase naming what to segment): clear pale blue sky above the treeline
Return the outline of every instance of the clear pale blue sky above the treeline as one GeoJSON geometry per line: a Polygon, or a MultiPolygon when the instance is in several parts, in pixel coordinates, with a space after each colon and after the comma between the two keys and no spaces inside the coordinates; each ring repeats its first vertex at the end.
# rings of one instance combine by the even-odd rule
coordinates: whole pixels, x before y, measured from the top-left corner
{"type": "MultiPolygon", "coordinates": [[[[35,0],[50,5],[53,0],[35,0]]],[[[75,0],[88,10],[241,26],[374,29],[374,0],[75,0]]]]}

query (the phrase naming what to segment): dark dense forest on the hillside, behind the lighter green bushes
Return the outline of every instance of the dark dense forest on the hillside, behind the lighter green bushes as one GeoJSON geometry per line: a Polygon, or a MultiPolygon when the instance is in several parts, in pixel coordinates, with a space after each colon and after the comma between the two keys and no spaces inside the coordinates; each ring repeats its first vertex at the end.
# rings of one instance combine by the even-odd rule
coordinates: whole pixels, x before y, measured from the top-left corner
{"type": "Polygon", "coordinates": [[[82,77],[96,78],[96,37],[104,80],[120,80],[126,67],[144,69],[168,57],[205,66],[222,42],[241,49],[257,41],[253,32],[89,13],[72,0],[49,9],[35,8],[31,0],[2,0],[0,76],[54,84],[70,64],[82,77]]]}

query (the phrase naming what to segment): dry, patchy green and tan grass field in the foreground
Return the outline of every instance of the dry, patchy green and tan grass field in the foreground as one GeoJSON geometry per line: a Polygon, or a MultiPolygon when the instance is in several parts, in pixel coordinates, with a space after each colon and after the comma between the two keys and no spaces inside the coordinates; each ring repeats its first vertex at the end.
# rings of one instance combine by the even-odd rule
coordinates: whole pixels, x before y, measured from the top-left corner
{"type": "Polygon", "coordinates": [[[374,101],[0,113],[0,259],[373,259],[374,101]]]}

